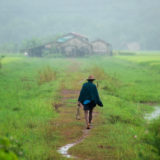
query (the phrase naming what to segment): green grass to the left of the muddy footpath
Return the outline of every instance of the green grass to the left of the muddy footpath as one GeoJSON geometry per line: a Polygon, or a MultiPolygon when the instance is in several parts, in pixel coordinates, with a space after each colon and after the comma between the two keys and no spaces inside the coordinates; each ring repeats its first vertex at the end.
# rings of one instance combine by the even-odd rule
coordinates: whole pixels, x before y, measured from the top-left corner
{"type": "Polygon", "coordinates": [[[49,133],[50,121],[58,116],[52,103],[56,102],[59,79],[63,67],[69,65],[61,67],[59,62],[63,60],[14,57],[2,61],[0,134],[22,143],[21,159],[47,159],[60,139],[57,133],[49,133]]]}

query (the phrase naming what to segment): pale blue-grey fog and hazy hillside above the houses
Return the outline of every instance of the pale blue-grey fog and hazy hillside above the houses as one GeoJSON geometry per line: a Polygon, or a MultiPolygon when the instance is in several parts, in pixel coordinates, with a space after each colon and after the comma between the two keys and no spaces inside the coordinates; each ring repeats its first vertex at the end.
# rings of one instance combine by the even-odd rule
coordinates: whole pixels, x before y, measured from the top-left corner
{"type": "Polygon", "coordinates": [[[159,0],[0,0],[0,44],[77,32],[159,50],[159,17],[159,0]]]}

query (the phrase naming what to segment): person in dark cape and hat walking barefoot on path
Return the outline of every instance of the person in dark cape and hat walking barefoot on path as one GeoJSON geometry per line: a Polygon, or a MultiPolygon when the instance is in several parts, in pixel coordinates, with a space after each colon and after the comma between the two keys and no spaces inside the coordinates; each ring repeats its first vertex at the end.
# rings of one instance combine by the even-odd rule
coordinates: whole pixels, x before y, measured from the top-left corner
{"type": "Polygon", "coordinates": [[[100,100],[98,90],[96,85],[93,83],[95,80],[93,75],[90,75],[87,79],[88,82],[84,83],[82,89],[80,91],[80,95],[78,98],[78,105],[83,105],[85,120],[87,129],[90,129],[90,124],[92,121],[92,113],[94,107],[98,104],[99,106],[103,106],[102,101],[100,100]]]}

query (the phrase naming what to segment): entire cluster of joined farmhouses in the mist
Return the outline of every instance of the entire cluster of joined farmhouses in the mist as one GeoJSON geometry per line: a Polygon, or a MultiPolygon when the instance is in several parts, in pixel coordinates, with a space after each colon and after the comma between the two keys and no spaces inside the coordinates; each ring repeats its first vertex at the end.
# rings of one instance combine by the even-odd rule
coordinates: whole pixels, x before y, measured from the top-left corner
{"type": "Polygon", "coordinates": [[[86,36],[71,32],[60,36],[55,41],[26,49],[25,52],[27,52],[29,56],[38,57],[41,57],[44,52],[51,54],[61,53],[68,57],[91,54],[112,55],[112,46],[103,40],[96,40],[90,43],[86,36]]]}

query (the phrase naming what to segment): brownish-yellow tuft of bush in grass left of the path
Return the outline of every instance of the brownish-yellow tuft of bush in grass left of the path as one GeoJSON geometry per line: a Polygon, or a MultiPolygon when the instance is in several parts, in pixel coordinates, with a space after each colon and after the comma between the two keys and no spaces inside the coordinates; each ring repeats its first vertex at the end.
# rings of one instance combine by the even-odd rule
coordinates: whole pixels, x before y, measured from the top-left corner
{"type": "Polygon", "coordinates": [[[51,67],[45,67],[42,70],[38,71],[37,82],[39,85],[50,82],[56,79],[56,71],[54,71],[51,67]]]}

